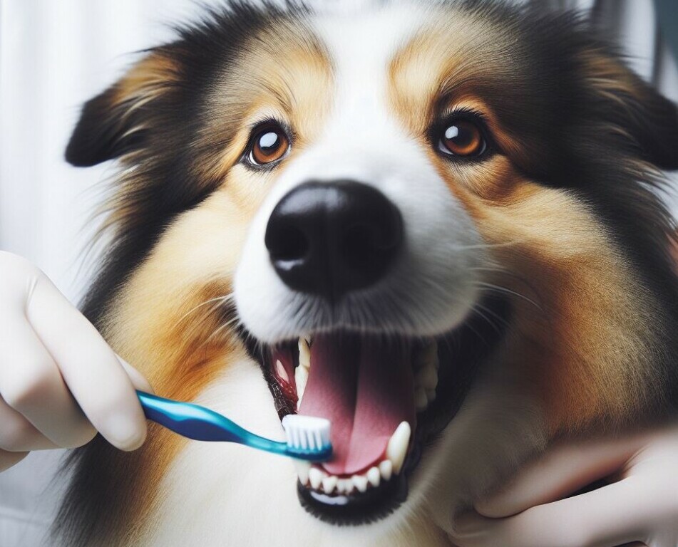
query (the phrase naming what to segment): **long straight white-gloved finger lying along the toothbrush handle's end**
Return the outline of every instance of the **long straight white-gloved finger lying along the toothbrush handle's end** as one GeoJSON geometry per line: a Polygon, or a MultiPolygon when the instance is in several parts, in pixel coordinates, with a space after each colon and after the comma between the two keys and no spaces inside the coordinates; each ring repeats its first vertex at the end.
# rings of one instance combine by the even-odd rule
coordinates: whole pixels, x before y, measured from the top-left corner
{"type": "Polygon", "coordinates": [[[96,328],[46,278],[36,284],[26,314],[93,426],[115,447],[138,448],[146,435],[141,405],[96,328]]]}

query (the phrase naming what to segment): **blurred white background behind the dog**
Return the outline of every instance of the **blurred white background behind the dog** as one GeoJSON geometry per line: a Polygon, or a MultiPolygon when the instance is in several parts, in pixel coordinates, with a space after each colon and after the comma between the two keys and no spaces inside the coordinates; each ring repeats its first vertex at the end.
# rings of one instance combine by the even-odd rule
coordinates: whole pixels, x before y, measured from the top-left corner
{"type": "MultiPolygon", "coordinates": [[[[322,2],[335,9],[355,3],[322,2]]],[[[652,0],[540,3],[594,9],[632,67],[678,101],[678,71],[652,0]]],[[[134,61],[131,52],[168,40],[171,21],[195,19],[199,10],[192,0],[0,0],[0,249],[40,266],[73,302],[94,258],[83,260],[96,227],[88,217],[101,182],[115,172],[113,165],[78,170],[63,161],[79,109],[134,61]]],[[[56,495],[43,489],[56,457],[31,454],[0,475],[0,547],[45,544],[56,495]]]]}

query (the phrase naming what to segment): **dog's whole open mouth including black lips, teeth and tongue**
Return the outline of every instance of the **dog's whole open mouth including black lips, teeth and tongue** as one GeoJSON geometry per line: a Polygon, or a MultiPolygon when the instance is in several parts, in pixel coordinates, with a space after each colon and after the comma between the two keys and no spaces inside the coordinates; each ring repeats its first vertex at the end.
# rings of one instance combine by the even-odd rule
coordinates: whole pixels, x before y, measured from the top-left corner
{"type": "MultiPolygon", "coordinates": [[[[508,317],[504,302],[488,306],[498,323],[508,317]]],[[[332,459],[295,461],[302,505],[342,524],[394,511],[422,449],[456,414],[503,330],[471,314],[438,338],[322,332],[260,353],[281,419],[297,412],[332,422],[332,459]]]]}

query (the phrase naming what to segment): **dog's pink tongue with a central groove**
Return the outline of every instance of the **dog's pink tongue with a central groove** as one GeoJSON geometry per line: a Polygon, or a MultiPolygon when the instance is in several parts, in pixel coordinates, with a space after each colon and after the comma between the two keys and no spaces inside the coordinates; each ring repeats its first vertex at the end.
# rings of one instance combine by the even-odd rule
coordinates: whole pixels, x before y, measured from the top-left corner
{"type": "Polygon", "coordinates": [[[331,474],[374,464],[401,422],[416,425],[409,344],[349,335],[317,335],[299,414],[332,422],[331,474]]]}

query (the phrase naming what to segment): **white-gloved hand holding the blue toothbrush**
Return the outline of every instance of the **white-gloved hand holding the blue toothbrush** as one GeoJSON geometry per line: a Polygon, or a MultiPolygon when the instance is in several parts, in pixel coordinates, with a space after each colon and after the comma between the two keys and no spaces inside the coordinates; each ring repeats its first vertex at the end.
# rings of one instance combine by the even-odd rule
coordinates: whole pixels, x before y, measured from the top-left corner
{"type": "Polygon", "coordinates": [[[138,448],[146,422],[135,387],[151,391],[36,266],[0,251],[0,471],[97,431],[138,448]]]}

